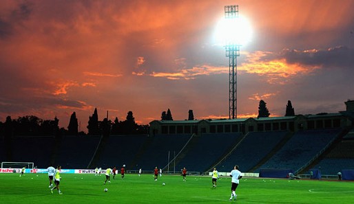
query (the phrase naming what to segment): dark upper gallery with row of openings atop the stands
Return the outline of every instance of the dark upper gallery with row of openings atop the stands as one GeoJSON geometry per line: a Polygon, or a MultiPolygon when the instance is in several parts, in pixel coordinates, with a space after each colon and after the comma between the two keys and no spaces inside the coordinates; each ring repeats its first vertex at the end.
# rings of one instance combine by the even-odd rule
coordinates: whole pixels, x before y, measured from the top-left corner
{"type": "Polygon", "coordinates": [[[149,135],[243,133],[343,128],[353,126],[354,101],[345,102],[346,111],[284,117],[238,118],[229,120],[154,120],[149,135]]]}

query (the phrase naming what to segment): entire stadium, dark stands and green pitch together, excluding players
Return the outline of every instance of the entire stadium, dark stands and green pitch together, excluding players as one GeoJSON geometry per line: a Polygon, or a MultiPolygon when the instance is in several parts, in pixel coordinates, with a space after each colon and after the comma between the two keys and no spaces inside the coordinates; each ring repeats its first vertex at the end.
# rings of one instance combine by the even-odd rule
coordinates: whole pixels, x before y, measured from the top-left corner
{"type": "Polygon", "coordinates": [[[46,168],[53,163],[63,167],[61,199],[66,203],[99,202],[103,196],[121,203],[230,202],[229,172],[238,164],[244,175],[237,190],[242,203],[332,203],[337,196],[351,203],[354,101],[345,104],[345,111],[318,115],[155,120],[147,135],[14,136],[10,148],[1,137],[0,194],[6,203],[47,203],[56,196],[47,188],[46,168]],[[123,164],[124,179],[117,175],[103,184],[103,177],[95,176],[96,167],[104,176],[106,168],[119,170],[123,164]],[[19,177],[23,166],[25,174],[19,177]],[[163,176],[154,181],[156,166],[163,176]],[[218,188],[211,188],[214,167],[220,174],[218,188]],[[187,182],[181,182],[182,168],[188,170],[187,182]],[[337,172],[342,182],[333,182],[337,172]],[[143,191],[138,197],[136,188],[143,191]]]}

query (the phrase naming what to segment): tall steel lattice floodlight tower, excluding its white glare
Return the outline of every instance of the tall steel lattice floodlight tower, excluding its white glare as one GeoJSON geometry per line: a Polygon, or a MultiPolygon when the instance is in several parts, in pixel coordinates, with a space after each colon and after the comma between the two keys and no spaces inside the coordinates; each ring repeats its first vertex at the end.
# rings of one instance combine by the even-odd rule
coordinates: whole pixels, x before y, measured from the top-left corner
{"type": "MultiPolygon", "coordinates": [[[[225,19],[238,18],[238,5],[225,5],[225,19]]],[[[226,56],[229,57],[229,119],[237,117],[237,57],[240,56],[240,45],[227,41],[226,56]]]]}

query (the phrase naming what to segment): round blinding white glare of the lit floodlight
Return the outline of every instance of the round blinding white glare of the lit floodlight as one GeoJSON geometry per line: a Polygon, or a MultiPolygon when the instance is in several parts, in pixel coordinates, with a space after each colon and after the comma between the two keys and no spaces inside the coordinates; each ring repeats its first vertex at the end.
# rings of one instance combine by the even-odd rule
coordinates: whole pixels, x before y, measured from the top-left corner
{"type": "Polygon", "coordinates": [[[244,17],[220,19],[216,25],[215,39],[218,45],[246,45],[251,41],[251,23],[244,17]]]}

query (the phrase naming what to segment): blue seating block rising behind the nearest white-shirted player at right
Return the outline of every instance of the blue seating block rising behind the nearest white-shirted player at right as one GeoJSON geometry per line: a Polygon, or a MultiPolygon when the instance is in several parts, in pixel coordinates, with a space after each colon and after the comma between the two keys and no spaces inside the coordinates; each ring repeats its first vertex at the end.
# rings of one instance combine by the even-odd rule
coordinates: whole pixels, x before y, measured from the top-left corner
{"type": "Polygon", "coordinates": [[[240,144],[228,157],[218,164],[221,172],[232,170],[238,164],[242,172],[249,172],[256,166],[282,139],[287,135],[286,131],[277,132],[252,132],[248,133],[240,144]]]}

